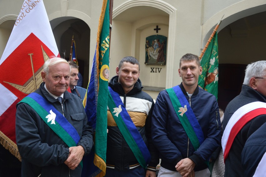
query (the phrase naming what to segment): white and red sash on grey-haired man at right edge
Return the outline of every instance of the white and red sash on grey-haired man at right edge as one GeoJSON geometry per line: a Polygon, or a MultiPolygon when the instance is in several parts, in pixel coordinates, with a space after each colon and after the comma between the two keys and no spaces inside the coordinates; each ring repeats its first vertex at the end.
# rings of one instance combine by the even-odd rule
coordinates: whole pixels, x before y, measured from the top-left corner
{"type": "Polygon", "coordinates": [[[238,132],[244,127],[244,125],[246,125],[246,123],[262,114],[266,114],[266,103],[260,101],[246,104],[234,112],[224,129],[222,137],[224,161],[229,154],[234,138],[238,132]]]}

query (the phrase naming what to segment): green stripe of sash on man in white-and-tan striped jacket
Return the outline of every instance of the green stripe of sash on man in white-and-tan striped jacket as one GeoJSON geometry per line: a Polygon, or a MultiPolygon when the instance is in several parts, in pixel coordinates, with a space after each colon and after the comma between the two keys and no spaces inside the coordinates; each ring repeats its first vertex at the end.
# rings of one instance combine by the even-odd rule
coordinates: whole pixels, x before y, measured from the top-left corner
{"type": "MultiPolygon", "coordinates": [[[[120,98],[119,98],[120,99],[120,98]]],[[[111,111],[112,108],[116,108],[116,104],[111,96],[111,93],[108,91],[108,107],[111,111]]],[[[132,152],[134,153],[136,159],[138,160],[138,162],[140,163],[140,165],[143,168],[146,168],[146,161],[138,147],[138,145],[136,144],[134,138],[132,137],[130,131],[128,130],[125,122],[123,121],[121,115],[119,114],[118,117],[115,116],[116,113],[113,113],[113,111],[111,111],[112,116],[114,118],[114,120],[116,121],[116,124],[119,128],[119,130],[121,131],[123,137],[125,138],[127,144],[129,145],[130,149],[132,150],[132,152]]]]}

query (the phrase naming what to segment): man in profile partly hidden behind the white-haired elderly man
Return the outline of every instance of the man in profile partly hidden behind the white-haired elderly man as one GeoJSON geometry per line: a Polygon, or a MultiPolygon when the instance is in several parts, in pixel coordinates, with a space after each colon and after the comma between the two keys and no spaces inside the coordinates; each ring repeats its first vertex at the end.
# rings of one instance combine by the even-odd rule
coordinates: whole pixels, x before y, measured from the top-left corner
{"type": "Polygon", "coordinates": [[[86,94],[86,89],[80,86],[77,86],[79,77],[78,77],[78,66],[74,61],[68,61],[70,68],[71,68],[71,73],[70,73],[70,83],[69,87],[71,90],[71,93],[77,95],[81,101],[83,101],[85,94],[86,94]]]}

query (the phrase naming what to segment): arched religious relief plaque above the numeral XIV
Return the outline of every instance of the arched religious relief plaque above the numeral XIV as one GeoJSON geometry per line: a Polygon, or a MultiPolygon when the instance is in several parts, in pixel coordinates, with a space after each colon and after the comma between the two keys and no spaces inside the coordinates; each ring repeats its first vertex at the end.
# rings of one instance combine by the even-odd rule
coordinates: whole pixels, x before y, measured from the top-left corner
{"type": "Polygon", "coordinates": [[[167,37],[152,35],[146,37],[145,43],[145,65],[166,64],[167,37]]]}

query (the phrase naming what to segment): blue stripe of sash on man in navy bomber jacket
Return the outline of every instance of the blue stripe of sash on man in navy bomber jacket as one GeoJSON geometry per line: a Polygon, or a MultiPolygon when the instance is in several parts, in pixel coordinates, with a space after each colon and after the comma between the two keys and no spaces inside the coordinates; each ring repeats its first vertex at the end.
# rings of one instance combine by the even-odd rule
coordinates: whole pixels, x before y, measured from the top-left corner
{"type": "Polygon", "coordinates": [[[195,114],[193,113],[189,102],[187,101],[186,97],[183,94],[183,91],[181,90],[181,88],[179,86],[174,86],[173,90],[175,91],[175,94],[181,104],[181,106],[185,106],[187,105],[187,111],[185,112],[185,115],[187,116],[190,125],[192,126],[193,130],[195,131],[195,134],[199,140],[199,144],[201,145],[204,141],[204,135],[203,132],[201,130],[201,127],[199,125],[199,122],[195,116],[195,114]]]}

